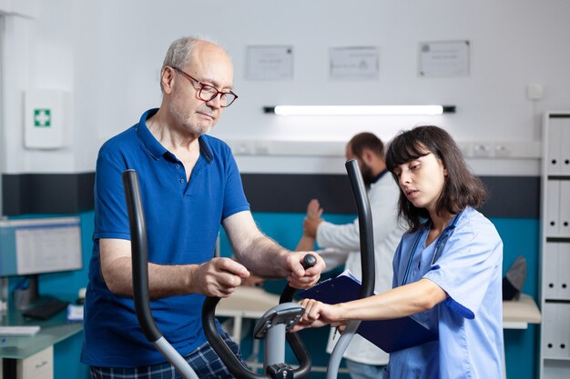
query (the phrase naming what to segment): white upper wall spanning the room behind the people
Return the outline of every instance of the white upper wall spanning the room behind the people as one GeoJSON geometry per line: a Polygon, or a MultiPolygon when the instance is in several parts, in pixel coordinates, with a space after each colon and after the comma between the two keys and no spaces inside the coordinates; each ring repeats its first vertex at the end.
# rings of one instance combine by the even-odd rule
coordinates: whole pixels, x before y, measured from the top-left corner
{"type": "MultiPolygon", "coordinates": [[[[564,0],[43,0],[39,4],[36,19],[10,16],[19,30],[6,36],[14,39],[14,45],[8,41],[4,52],[14,52],[18,64],[8,64],[3,73],[4,79],[17,77],[16,83],[4,83],[2,101],[11,109],[5,114],[12,112],[3,119],[5,172],[92,171],[97,148],[105,139],[159,105],[158,70],[168,44],[180,35],[210,35],[233,56],[239,100],[213,131],[233,143],[300,140],[341,146],[362,130],[389,139],[402,128],[430,123],[442,125],[466,146],[480,142],[523,146],[521,156],[527,159],[470,159],[480,174],[537,175],[540,115],[546,109],[570,108],[570,3],[564,0]],[[422,78],[417,74],[420,42],[459,39],[472,44],[471,75],[422,78]],[[247,45],[293,45],[294,79],[246,80],[247,45]],[[378,47],[379,80],[329,79],[329,48],[353,45],[378,47]],[[528,100],[528,84],[544,85],[545,97],[528,100]],[[22,135],[17,115],[20,91],[42,86],[73,91],[74,144],[62,151],[25,150],[16,136],[22,135]],[[262,106],[276,104],[444,104],[456,105],[457,113],[286,118],[261,112],[262,106]]],[[[316,155],[239,155],[238,162],[243,172],[343,172],[342,153],[332,160],[316,155]]]]}

